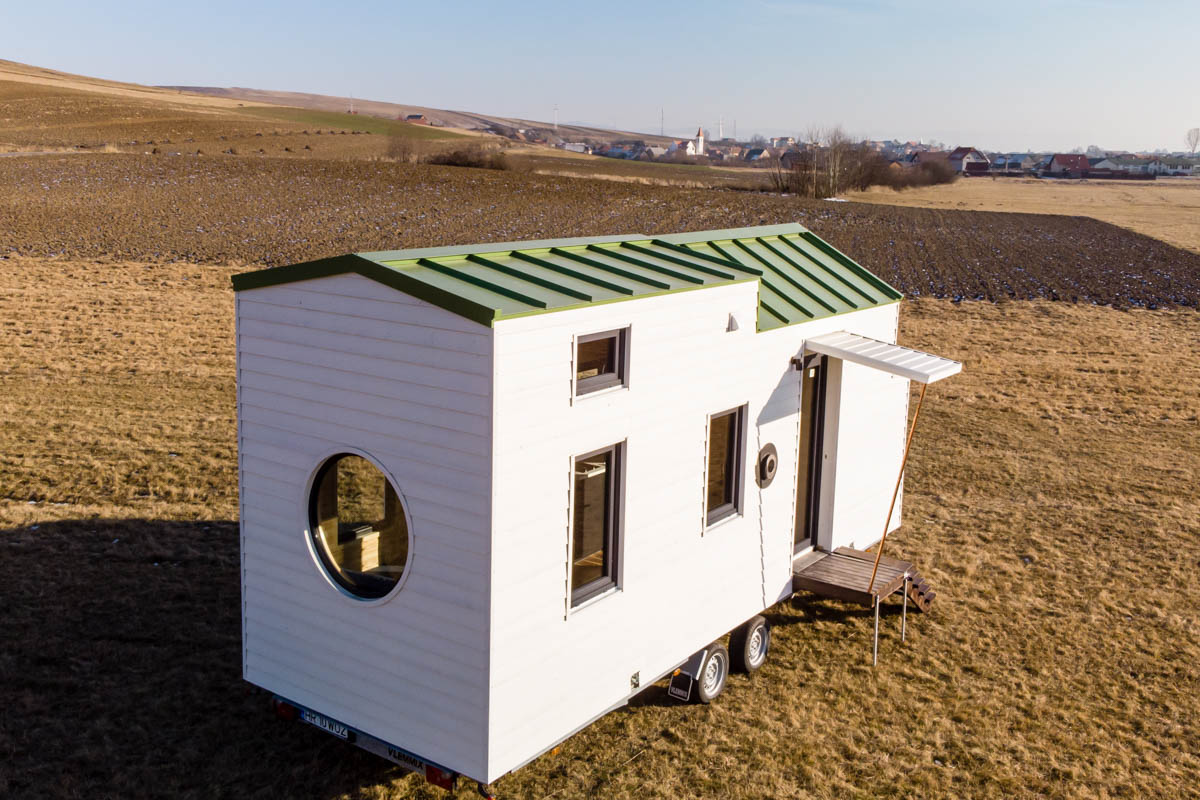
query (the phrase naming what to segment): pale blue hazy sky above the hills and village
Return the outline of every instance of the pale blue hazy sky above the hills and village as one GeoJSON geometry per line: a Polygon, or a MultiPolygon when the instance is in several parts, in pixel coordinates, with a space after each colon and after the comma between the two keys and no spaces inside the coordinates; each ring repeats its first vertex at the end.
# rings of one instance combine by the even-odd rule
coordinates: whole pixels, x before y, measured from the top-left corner
{"type": "Polygon", "coordinates": [[[12,4],[0,58],[667,134],[1182,150],[1196,0],[12,4]],[[660,118],[661,115],[661,118],[660,118]]]}

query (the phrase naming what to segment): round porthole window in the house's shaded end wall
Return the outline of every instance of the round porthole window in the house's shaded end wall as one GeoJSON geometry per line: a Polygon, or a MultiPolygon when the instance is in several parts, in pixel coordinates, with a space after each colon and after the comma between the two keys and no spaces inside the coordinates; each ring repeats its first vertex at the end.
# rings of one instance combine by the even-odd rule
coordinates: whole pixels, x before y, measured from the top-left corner
{"type": "Polygon", "coordinates": [[[400,583],[408,521],[391,481],[362,456],[340,453],[317,470],[308,529],[325,572],[355,597],[376,600],[400,583]]]}

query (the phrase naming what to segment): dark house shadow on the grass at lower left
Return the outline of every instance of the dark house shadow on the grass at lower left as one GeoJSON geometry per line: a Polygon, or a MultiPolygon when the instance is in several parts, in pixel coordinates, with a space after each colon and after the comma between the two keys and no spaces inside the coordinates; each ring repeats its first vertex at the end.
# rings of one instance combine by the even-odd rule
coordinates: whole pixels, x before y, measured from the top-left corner
{"type": "Polygon", "coordinates": [[[238,570],[234,522],[0,530],[0,795],[332,798],[400,778],[241,680],[238,570]]]}

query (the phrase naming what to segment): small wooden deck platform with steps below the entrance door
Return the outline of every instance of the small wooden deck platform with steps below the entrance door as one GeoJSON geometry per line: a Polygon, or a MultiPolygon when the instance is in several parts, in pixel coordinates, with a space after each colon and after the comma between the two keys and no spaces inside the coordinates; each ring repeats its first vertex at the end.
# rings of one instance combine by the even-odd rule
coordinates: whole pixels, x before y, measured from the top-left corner
{"type": "Polygon", "coordinates": [[[810,553],[792,566],[792,591],[811,591],[823,597],[871,607],[877,600],[902,591],[905,576],[912,577],[911,564],[883,558],[875,576],[875,585],[868,591],[874,566],[874,553],[848,547],[839,547],[832,553],[810,553]]]}

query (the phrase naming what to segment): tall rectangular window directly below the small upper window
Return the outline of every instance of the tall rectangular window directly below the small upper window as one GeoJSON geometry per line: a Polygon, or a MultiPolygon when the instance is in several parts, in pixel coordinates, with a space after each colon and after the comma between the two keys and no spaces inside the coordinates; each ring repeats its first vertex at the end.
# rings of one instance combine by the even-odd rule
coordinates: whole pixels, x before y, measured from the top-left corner
{"type": "Polygon", "coordinates": [[[575,458],[571,606],[617,585],[622,446],[575,458]]]}

